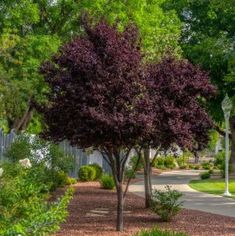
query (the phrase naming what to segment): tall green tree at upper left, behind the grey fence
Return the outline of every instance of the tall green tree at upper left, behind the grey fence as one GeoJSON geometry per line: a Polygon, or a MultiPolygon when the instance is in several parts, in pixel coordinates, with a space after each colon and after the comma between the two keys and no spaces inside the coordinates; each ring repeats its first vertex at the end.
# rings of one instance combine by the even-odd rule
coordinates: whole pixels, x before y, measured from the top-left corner
{"type": "Polygon", "coordinates": [[[0,9],[0,121],[20,131],[38,120],[31,103],[46,89],[38,67],[75,33],[77,8],[73,1],[13,0],[0,9]]]}

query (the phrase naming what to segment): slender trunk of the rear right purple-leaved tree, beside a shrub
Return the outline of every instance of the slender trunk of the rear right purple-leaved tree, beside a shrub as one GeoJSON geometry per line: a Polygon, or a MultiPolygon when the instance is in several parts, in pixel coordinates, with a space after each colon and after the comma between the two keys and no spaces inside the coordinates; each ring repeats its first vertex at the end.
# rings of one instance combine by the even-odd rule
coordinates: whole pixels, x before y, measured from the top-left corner
{"type": "Polygon", "coordinates": [[[145,207],[149,208],[152,197],[151,165],[149,148],[144,149],[144,187],[145,187],[145,207]]]}

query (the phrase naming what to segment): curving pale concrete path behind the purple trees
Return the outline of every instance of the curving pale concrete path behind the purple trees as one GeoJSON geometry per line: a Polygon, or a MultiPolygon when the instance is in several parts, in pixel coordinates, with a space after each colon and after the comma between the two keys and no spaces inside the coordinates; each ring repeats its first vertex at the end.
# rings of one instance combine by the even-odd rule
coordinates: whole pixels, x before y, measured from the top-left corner
{"type": "MultiPolygon", "coordinates": [[[[164,189],[165,185],[183,192],[184,208],[235,217],[235,200],[218,195],[198,192],[188,186],[191,179],[198,179],[198,170],[164,172],[152,177],[154,189],[164,189]]],[[[138,176],[143,179],[143,176],[138,176]]],[[[130,192],[144,196],[144,181],[130,185],[130,192]]]]}

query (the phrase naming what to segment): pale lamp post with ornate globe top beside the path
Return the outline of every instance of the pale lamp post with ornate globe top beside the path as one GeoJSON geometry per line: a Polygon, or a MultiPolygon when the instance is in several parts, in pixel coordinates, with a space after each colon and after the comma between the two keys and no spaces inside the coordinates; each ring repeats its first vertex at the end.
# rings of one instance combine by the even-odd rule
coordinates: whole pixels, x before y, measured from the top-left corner
{"type": "Polygon", "coordinates": [[[224,100],[222,101],[222,109],[224,111],[225,118],[225,191],[224,196],[230,197],[229,192],[229,116],[232,109],[232,102],[230,101],[228,95],[226,94],[224,100]]]}

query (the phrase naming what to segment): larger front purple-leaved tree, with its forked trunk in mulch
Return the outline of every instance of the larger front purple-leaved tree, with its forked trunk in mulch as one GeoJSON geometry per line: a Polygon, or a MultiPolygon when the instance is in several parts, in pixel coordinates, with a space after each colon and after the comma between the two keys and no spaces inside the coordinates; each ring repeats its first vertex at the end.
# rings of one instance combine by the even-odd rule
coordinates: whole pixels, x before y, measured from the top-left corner
{"type": "Polygon", "coordinates": [[[152,129],[154,113],[134,26],[124,32],[101,21],[64,45],[41,71],[50,87],[41,109],[44,136],[94,147],[112,169],[117,190],[117,230],[123,230],[124,168],[130,150],[152,129]]]}

